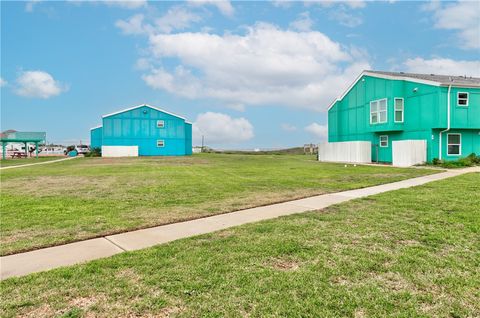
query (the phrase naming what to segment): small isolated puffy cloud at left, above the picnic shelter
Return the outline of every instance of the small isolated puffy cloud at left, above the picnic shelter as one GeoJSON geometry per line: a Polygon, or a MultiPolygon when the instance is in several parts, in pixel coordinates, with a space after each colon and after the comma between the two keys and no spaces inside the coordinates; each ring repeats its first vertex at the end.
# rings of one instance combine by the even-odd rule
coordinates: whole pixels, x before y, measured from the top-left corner
{"type": "Polygon", "coordinates": [[[20,73],[15,93],[20,96],[49,98],[66,91],[67,87],[56,81],[52,75],[43,71],[25,71],[20,73]]]}

